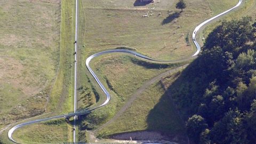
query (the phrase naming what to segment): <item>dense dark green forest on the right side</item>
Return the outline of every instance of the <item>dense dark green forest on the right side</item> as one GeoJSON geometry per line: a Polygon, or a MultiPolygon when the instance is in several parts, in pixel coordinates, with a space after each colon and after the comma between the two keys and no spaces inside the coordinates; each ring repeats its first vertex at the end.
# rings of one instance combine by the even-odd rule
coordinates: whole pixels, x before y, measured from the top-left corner
{"type": "Polygon", "coordinates": [[[255,143],[256,22],[223,21],[170,87],[194,143],[255,143]]]}

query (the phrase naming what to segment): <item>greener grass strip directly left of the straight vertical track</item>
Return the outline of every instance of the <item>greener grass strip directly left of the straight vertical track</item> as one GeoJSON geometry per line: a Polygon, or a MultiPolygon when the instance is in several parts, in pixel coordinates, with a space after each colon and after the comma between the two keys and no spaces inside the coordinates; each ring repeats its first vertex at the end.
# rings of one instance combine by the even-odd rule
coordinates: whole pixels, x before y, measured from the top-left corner
{"type": "Polygon", "coordinates": [[[75,1],[61,1],[60,60],[58,75],[51,91],[48,111],[73,111],[75,1]]]}

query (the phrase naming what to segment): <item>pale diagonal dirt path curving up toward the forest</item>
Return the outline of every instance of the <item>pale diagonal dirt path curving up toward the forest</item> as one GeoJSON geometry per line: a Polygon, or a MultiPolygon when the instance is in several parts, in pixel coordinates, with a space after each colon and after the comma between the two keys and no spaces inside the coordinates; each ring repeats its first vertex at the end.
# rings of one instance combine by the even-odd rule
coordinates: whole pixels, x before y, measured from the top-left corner
{"type": "Polygon", "coordinates": [[[165,77],[165,76],[167,76],[167,75],[170,75],[171,73],[174,73],[175,71],[178,71],[178,70],[180,70],[180,69],[186,68],[187,66],[188,66],[188,64],[187,64],[187,65],[180,66],[180,67],[175,68],[175,69],[168,70],[168,71],[166,71],[166,72],[164,72],[164,73],[162,73],[162,74],[159,74],[159,75],[157,75],[157,76],[155,76],[155,77],[149,79],[147,82],[145,82],[145,83],[140,87],[140,89],[138,89],[138,90],[132,95],[132,97],[125,103],[125,105],[117,112],[117,114],[116,114],[113,118],[111,118],[107,123],[105,123],[105,124],[103,124],[102,126],[100,126],[97,130],[95,130],[95,132],[97,132],[97,131],[103,129],[103,128],[106,127],[108,124],[114,122],[119,116],[121,116],[121,115],[124,113],[124,111],[125,111],[127,108],[129,108],[129,107],[131,106],[131,104],[133,103],[133,101],[134,101],[135,99],[137,99],[137,98],[141,95],[141,93],[144,92],[144,91],[147,89],[148,86],[150,86],[151,84],[154,84],[154,83],[160,81],[160,80],[161,80],[161,77],[165,77]]]}

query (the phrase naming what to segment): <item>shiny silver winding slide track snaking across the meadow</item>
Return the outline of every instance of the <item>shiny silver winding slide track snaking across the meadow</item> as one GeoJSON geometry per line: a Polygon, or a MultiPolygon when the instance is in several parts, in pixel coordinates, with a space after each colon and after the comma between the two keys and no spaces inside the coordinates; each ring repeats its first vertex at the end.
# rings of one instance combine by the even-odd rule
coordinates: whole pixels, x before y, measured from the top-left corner
{"type": "MultiPolygon", "coordinates": [[[[195,30],[193,31],[193,35],[192,35],[192,38],[193,38],[193,42],[195,43],[196,45],[196,52],[191,56],[191,57],[195,57],[201,50],[201,46],[198,44],[198,42],[196,41],[196,33],[197,31],[203,27],[205,24],[209,23],[210,21],[220,17],[221,15],[223,14],[226,14],[234,9],[236,9],[236,7],[238,7],[239,5],[242,4],[242,1],[243,0],[239,0],[237,5],[232,7],[231,9],[225,11],[225,12],[222,12],[218,15],[216,15],[215,17],[211,18],[211,19],[208,19],[204,22],[202,22],[200,25],[198,25],[195,30]]],[[[103,84],[100,82],[99,78],[97,77],[97,75],[94,73],[94,71],[91,69],[90,67],[90,61],[95,58],[95,57],[99,57],[100,55],[103,55],[103,54],[109,54],[109,53],[128,53],[128,54],[132,54],[132,55],[135,55],[141,59],[144,59],[144,60],[149,60],[149,61],[153,61],[153,62],[178,62],[178,61],[164,61],[164,60],[155,60],[155,59],[152,59],[152,58],[149,58],[147,57],[146,55],[143,55],[143,54],[140,54],[140,53],[137,53],[135,51],[130,51],[130,50],[123,50],[123,49],[115,49],[115,50],[108,50],[108,51],[103,51],[103,52],[99,52],[99,53],[95,53],[93,55],[91,55],[89,58],[86,59],[86,67],[87,69],[90,71],[90,73],[92,74],[92,76],[94,77],[95,81],[99,84],[100,88],[102,89],[102,91],[105,93],[106,95],[106,100],[105,102],[103,102],[100,106],[97,106],[97,107],[94,107],[94,108],[91,108],[91,109],[86,109],[86,110],[83,110],[83,111],[78,111],[76,113],[71,113],[71,114],[66,114],[66,115],[59,115],[59,116],[53,116],[53,117],[49,117],[49,118],[44,118],[44,119],[37,119],[35,121],[30,121],[30,122],[26,122],[26,123],[21,123],[21,124],[18,124],[18,125],[15,125],[14,127],[12,127],[9,132],[8,132],[8,137],[11,141],[15,142],[15,143],[19,143],[17,141],[15,141],[13,138],[12,138],[12,134],[15,130],[17,130],[18,128],[22,127],[22,126],[26,126],[26,125],[30,125],[30,124],[34,124],[34,123],[39,123],[39,122],[44,122],[44,121],[49,121],[51,119],[56,119],[56,118],[66,118],[66,117],[73,117],[73,116],[79,116],[79,115],[84,115],[84,114],[88,114],[90,113],[92,110],[95,110],[97,108],[100,108],[102,106],[105,106],[107,105],[107,103],[109,102],[110,100],[110,94],[109,92],[107,91],[107,89],[103,86],[103,84]]]]}

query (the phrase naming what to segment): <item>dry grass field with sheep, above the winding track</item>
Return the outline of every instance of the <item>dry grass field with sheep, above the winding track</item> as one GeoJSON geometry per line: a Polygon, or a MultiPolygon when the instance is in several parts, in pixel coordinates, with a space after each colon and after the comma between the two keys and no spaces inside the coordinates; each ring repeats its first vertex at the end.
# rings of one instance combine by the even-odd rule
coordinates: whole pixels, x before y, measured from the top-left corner
{"type": "Polygon", "coordinates": [[[87,51],[95,52],[126,45],[150,57],[180,59],[195,51],[188,46],[186,36],[199,22],[214,15],[216,9],[223,11],[236,4],[235,0],[221,2],[222,5],[214,2],[211,10],[208,1],[188,1],[185,11],[179,13],[175,2],[163,0],[154,5],[133,6],[133,0],[122,4],[121,1],[82,1],[80,26],[84,46],[87,51]],[[154,10],[150,12],[151,9],[154,10]],[[142,18],[147,12],[154,15],[142,18]],[[178,17],[163,23],[175,12],[179,13],[178,17]]]}

